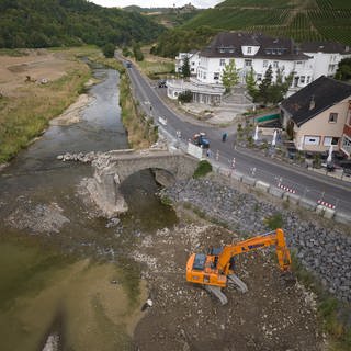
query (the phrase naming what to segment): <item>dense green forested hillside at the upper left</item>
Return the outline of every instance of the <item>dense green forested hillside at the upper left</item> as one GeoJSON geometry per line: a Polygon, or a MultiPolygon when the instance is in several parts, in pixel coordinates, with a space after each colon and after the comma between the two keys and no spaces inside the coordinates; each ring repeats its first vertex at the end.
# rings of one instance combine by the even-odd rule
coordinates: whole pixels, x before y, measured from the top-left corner
{"type": "Polygon", "coordinates": [[[87,0],[1,0],[0,48],[128,44],[155,39],[163,27],[137,12],[87,0]]]}

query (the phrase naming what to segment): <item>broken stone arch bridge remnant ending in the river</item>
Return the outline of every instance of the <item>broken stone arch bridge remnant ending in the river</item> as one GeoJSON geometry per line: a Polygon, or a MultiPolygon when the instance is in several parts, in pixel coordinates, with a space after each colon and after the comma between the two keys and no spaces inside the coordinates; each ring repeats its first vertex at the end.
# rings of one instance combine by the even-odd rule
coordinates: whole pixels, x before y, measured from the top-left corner
{"type": "Polygon", "coordinates": [[[111,217],[126,212],[127,204],[120,192],[120,184],[133,173],[151,169],[162,185],[176,180],[190,179],[199,160],[182,151],[157,149],[113,150],[99,155],[93,161],[94,176],[88,181],[92,200],[111,217]]]}

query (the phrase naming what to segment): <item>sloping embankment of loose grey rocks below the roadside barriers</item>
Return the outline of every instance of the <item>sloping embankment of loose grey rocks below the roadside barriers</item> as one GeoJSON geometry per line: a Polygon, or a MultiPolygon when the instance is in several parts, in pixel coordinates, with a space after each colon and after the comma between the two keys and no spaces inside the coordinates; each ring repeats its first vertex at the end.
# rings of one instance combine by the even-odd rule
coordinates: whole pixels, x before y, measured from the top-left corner
{"type": "Polygon", "coordinates": [[[173,202],[190,203],[248,237],[269,231],[264,219],[281,213],[288,246],[303,265],[315,273],[331,294],[351,302],[351,236],[332,227],[335,224],[327,228],[318,219],[302,219],[288,208],[208,179],[178,182],[161,194],[173,202]]]}

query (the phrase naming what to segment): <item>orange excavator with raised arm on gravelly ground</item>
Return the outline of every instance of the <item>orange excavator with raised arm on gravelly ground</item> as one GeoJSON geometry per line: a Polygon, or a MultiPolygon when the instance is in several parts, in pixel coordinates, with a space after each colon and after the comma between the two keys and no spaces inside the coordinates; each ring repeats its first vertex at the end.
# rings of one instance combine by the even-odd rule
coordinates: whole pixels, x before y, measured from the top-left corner
{"type": "Polygon", "coordinates": [[[202,284],[207,291],[219,298],[222,304],[227,299],[220,288],[226,287],[228,281],[247,291],[246,284],[235,274],[235,257],[264,247],[275,246],[278,263],[282,272],[290,272],[291,256],[286,247],[283,229],[267,233],[250,239],[226,245],[224,248],[211,248],[208,253],[192,253],[186,263],[186,281],[202,284]]]}

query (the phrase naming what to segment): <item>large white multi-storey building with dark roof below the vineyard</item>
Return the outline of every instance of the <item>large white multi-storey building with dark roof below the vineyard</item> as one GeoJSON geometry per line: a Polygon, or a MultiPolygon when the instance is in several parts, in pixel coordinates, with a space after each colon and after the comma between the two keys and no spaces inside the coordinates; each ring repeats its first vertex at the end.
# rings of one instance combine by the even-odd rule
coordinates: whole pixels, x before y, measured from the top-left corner
{"type": "MultiPolygon", "coordinates": [[[[293,72],[292,93],[320,76],[333,76],[338,63],[351,56],[349,47],[341,44],[307,43],[302,48],[304,50],[298,48],[291,38],[274,38],[263,34],[241,32],[219,33],[202,52],[181,53],[176,59],[176,70],[181,71],[183,65],[181,58],[188,55],[192,76],[195,76],[191,81],[196,87],[196,100],[205,102],[208,99],[199,99],[201,94],[199,87],[222,86],[223,71],[231,59],[235,59],[241,83],[245,83],[246,75],[251,68],[258,84],[262,81],[269,66],[273,70],[273,81],[276,79],[278,70],[283,77],[293,72]]],[[[180,84],[173,81],[169,82],[168,87],[169,98],[177,99],[182,91],[180,84]]],[[[192,91],[191,87],[188,89],[192,91]]]]}

